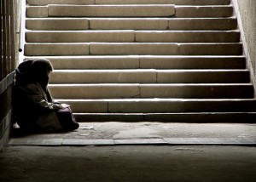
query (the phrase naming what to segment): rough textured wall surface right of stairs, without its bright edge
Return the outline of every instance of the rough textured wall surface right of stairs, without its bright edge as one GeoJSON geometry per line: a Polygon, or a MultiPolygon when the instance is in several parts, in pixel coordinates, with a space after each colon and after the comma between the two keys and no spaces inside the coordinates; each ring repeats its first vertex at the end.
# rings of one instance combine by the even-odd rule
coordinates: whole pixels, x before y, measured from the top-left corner
{"type": "MultiPolygon", "coordinates": [[[[250,55],[254,75],[256,73],[256,1],[236,0],[241,15],[241,24],[247,42],[247,51],[250,55]]],[[[235,2],[236,2],[235,1],[235,2]]]]}

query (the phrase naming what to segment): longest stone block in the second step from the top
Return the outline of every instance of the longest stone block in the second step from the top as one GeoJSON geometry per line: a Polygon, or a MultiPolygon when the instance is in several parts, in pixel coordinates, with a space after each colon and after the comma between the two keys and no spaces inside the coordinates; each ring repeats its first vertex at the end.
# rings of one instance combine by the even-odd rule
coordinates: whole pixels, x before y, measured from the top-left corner
{"type": "Polygon", "coordinates": [[[49,5],[49,16],[171,16],[173,4],[49,5]]]}

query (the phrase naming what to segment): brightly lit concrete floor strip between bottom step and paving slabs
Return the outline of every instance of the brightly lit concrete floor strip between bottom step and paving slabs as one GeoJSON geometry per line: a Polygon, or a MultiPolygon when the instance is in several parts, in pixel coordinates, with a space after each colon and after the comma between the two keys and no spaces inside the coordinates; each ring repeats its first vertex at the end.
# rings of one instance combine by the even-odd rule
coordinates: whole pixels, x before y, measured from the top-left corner
{"type": "Polygon", "coordinates": [[[73,132],[65,134],[26,134],[21,137],[38,139],[255,138],[256,124],[80,122],[80,128],[73,132]]]}

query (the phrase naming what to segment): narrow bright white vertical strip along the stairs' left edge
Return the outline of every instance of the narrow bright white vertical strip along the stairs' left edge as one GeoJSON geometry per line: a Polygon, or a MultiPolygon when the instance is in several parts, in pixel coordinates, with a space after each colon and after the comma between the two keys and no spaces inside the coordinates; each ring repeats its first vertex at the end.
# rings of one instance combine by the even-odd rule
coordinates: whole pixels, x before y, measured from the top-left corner
{"type": "Polygon", "coordinates": [[[20,43],[19,43],[19,63],[24,60],[24,44],[25,44],[25,20],[26,20],[26,0],[20,3],[20,43]]]}

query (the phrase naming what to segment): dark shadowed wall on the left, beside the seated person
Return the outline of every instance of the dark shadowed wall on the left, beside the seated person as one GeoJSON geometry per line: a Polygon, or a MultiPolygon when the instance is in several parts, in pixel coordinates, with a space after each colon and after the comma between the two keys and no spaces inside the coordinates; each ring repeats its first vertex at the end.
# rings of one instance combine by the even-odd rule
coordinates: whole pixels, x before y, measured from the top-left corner
{"type": "Polygon", "coordinates": [[[13,121],[13,86],[19,60],[20,3],[1,0],[0,151],[9,139],[13,121]]]}

